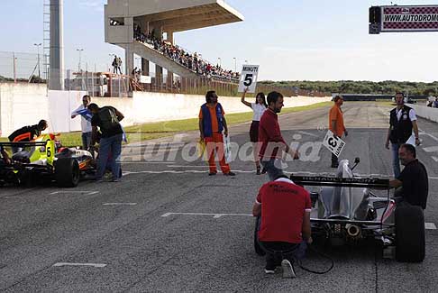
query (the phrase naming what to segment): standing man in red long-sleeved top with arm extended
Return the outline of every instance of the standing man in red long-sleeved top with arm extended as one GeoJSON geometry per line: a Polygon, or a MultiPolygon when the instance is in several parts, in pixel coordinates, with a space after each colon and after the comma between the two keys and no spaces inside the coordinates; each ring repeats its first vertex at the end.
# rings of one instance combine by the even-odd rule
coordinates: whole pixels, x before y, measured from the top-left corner
{"type": "Polygon", "coordinates": [[[259,157],[270,180],[284,175],[281,169],[282,151],[286,151],[294,160],[299,159],[298,151],[289,148],[281,136],[277,114],[281,112],[282,107],[283,95],[278,92],[269,93],[268,109],[261,116],[259,124],[259,142],[261,142],[259,157]]]}

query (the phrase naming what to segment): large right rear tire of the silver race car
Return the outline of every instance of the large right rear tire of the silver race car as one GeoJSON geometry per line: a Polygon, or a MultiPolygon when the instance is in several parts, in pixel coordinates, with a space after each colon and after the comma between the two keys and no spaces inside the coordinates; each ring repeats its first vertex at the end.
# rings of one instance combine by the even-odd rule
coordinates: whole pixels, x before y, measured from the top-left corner
{"type": "Polygon", "coordinates": [[[424,214],[420,206],[403,205],[396,209],[396,259],[424,261],[424,214]]]}

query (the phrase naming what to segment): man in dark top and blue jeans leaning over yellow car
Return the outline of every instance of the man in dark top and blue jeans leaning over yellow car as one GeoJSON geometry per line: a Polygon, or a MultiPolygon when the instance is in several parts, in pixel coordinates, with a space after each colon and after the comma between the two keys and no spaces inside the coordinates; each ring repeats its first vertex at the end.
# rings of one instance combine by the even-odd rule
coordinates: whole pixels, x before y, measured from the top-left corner
{"type": "Polygon", "coordinates": [[[99,130],[102,133],[99,142],[96,181],[102,181],[106,163],[111,151],[110,165],[113,172],[112,181],[117,182],[119,180],[120,154],[122,153],[123,141],[123,128],[120,122],[123,120],[124,116],[112,106],[99,108],[96,104],[90,104],[88,105],[88,110],[93,114],[93,117],[91,118],[93,133],[91,145],[94,145],[96,142],[98,136],[97,127],[99,127],[99,130]]]}

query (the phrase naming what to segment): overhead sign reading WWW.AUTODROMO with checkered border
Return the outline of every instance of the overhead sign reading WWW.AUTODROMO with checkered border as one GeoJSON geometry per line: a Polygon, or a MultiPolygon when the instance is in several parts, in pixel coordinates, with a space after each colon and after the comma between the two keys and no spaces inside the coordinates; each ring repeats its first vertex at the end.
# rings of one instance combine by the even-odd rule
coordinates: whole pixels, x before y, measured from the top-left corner
{"type": "Polygon", "coordinates": [[[370,8],[370,33],[438,32],[438,5],[370,8]]]}

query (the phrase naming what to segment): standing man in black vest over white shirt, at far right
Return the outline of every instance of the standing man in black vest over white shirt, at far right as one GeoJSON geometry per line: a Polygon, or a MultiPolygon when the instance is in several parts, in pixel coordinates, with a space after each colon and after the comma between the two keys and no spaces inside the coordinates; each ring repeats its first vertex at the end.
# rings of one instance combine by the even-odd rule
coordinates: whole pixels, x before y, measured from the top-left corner
{"type": "Polygon", "coordinates": [[[415,133],[415,144],[420,145],[418,126],[416,124],[415,110],[405,105],[403,93],[396,94],[397,107],[390,112],[389,129],[385,147],[389,150],[389,142],[392,145],[392,164],[394,177],[400,176],[400,162],[398,149],[409,140],[412,130],[415,133]]]}

